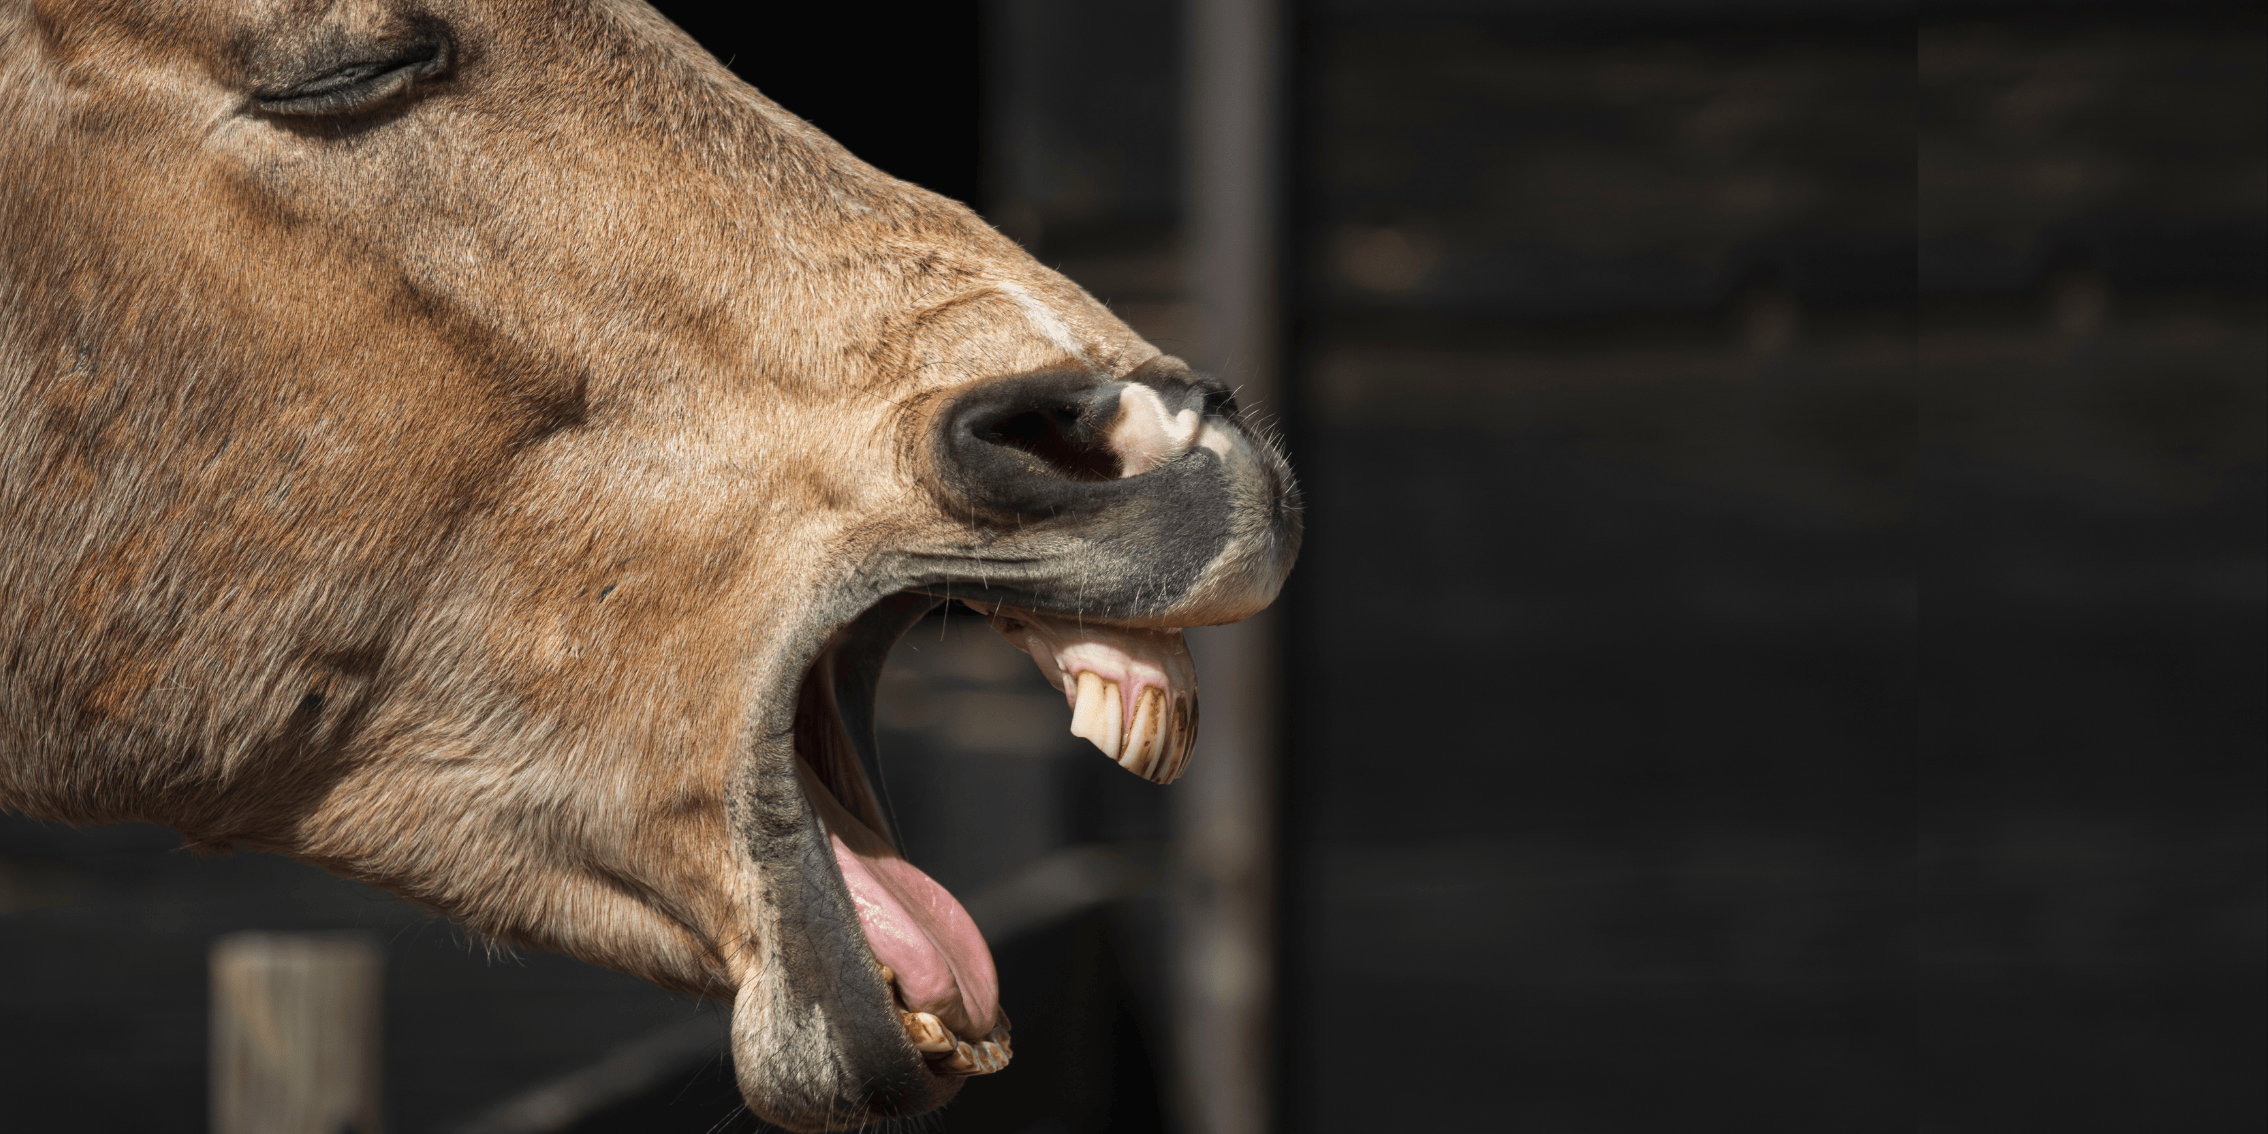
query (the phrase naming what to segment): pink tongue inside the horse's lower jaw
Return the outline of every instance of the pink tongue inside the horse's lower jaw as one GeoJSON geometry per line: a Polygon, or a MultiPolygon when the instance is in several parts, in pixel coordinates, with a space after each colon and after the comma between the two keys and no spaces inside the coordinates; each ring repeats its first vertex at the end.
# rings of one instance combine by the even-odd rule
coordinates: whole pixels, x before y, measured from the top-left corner
{"type": "Polygon", "coordinates": [[[1000,975],[968,909],[864,823],[839,807],[826,812],[828,841],[857,905],[860,928],[873,957],[898,973],[905,1007],[934,1014],[966,1039],[991,1034],[1000,1016],[1000,975]],[[848,830],[850,841],[844,841],[844,826],[855,828],[848,830]]]}

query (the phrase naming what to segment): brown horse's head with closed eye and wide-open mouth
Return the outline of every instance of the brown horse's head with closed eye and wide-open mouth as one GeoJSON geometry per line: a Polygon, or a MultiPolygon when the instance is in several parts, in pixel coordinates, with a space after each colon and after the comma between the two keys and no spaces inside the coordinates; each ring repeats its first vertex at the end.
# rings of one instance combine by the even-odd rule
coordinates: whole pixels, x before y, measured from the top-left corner
{"type": "Polygon", "coordinates": [[[0,0],[0,805],[277,850],[925,1111],[991,959],[862,773],[959,599],[1170,780],[1284,460],[635,0],[0,0]]]}

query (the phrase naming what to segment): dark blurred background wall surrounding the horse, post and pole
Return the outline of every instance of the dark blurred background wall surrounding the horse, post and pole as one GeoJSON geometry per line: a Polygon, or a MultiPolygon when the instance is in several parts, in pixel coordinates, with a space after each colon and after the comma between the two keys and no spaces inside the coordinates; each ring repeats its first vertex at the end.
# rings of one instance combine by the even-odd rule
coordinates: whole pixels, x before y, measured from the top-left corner
{"type": "MultiPolygon", "coordinates": [[[[1186,345],[1179,5],[662,9],[1186,345]]],[[[2259,5],[1290,11],[1279,1127],[2259,1127],[2259,5]]],[[[1136,882],[925,1127],[1166,1129],[1166,801],[971,631],[885,689],[914,862],[1136,882]]],[[[200,1129],[236,928],[383,934],[395,1129],[694,1012],[172,844],[0,819],[0,1125],[200,1129]]]]}

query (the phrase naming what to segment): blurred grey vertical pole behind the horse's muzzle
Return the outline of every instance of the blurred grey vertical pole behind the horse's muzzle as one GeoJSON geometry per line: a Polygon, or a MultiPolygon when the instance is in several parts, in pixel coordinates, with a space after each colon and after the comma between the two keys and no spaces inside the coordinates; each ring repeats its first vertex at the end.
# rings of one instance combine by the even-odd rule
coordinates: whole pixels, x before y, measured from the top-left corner
{"type": "MultiPolygon", "coordinates": [[[[1279,408],[1277,0],[1186,11],[1191,361],[1247,413],[1279,408]]],[[[1275,619],[1191,633],[1204,721],[1175,785],[1175,1093],[1186,1134],[1263,1134],[1275,1000],[1275,619]]]]}

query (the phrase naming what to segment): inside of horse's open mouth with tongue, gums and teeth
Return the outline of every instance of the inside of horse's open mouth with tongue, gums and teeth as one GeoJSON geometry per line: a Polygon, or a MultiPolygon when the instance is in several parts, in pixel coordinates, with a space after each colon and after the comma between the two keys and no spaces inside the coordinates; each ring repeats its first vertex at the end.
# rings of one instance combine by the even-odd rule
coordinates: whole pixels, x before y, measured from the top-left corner
{"type": "MultiPolygon", "coordinates": [[[[937,1075],[1007,1066],[1009,1023],[975,921],[898,848],[873,792],[875,687],[889,649],[943,599],[894,594],[846,626],[803,674],[794,746],[860,930],[896,998],[907,1041],[937,1075]]],[[[1070,733],[1127,771],[1173,782],[1198,737],[1195,665],[1182,631],[1134,631],[1057,615],[980,610],[1032,655],[1070,705],[1070,733]]]]}

